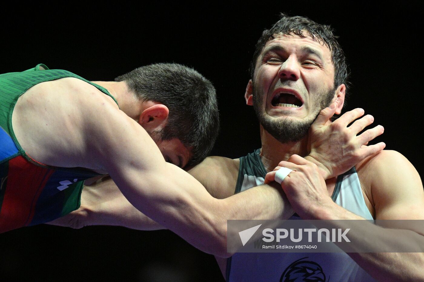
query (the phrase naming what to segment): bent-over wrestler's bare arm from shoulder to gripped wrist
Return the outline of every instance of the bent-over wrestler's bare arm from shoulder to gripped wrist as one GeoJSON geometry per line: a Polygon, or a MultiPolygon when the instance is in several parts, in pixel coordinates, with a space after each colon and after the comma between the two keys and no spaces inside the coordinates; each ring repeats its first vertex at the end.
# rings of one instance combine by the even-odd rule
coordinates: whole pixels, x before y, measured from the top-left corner
{"type": "Polygon", "coordinates": [[[29,111],[29,116],[37,117],[36,122],[20,123],[18,119],[15,123],[22,124],[20,140],[38,124],[32,131],[36,134],[24,144],[34,159],[52,166],[81,166],[109,172],[137,210],[198,249],[213,254],[226,255],[228,218],[282,215],[283,204],[262,209],[269,199],[281,198],[281,192],[273,188],[215,199],[190,174],[166,163],[148,133],[109,97],[93,86],[80,85],[84,82],[76,79],[66,81],[69,85],[60,84],[59,80],[50,83],[42,89],[42,95],[23,96],[28,101],[42,98],[40,105],[44,105],[35,105],[29,111]],[[70,85],[77,91],[73,92],[70,85]],[[60,92],[60,99],[55,98],[57,93],[50,95],[49,91],[60,92]],[[47,150],[39,149],[46,147],[47,150]]]}

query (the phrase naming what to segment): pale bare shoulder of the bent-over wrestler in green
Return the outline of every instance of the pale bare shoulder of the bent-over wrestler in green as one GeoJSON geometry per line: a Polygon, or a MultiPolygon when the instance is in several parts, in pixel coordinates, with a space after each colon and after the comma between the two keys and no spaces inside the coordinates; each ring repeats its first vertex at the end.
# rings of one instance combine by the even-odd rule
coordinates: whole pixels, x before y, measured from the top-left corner
{"type": "Polygon", "coordinates": [[[126,119],[111,97],[83,80],[66,77],[28,89],[15,105],[12,124],[21,147],[38,162],[98,169],[86,157],[92,152],[88,145],[111,140],[114,131],[107,127],[116,124],[114,129],[120,130],[117,121],[126,119]]]}

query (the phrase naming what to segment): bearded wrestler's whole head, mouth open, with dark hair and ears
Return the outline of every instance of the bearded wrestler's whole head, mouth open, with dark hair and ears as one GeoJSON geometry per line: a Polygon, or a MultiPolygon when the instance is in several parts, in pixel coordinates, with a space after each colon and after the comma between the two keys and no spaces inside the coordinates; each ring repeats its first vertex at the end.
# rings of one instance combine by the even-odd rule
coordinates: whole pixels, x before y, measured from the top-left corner
{"type": "Polygon", "coordinates": [[[348,71],[332,29],[306,17],[281,19],[264,30],[245,93],[262,127],[282,143],[303,138],[318,113],[343,108],[348,71]]]}

